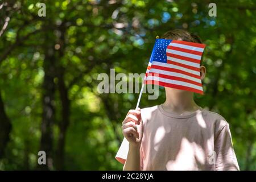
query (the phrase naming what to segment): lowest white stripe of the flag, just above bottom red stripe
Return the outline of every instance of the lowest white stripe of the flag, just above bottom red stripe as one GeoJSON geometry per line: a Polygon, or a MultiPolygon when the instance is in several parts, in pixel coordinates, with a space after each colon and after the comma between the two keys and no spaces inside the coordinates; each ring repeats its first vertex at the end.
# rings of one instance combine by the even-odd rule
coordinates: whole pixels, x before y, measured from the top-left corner
{"type": "Polygon", "coordinates": [[[159,81],[159,82],[166,82],[168,84],[187,86],[187,87],[190,87],[190,88],[193,88],[193,89],[197,89],[197,90],[203,91],[201,86],[193,85],[193,84],[190,84],[190,83],[184,82],[184,81],[169,80],[167,78],[161,78],[161,77],[156,77],[156,76],[148,76],[147,77],[147,81],[148,80],[154,80],[154,81],[159,81]]]}

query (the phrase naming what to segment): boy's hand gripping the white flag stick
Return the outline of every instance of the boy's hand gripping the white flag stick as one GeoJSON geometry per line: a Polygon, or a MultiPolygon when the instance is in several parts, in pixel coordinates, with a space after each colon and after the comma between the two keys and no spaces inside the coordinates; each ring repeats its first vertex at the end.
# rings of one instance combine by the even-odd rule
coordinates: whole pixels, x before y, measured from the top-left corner
{"type": "Polygon", "coordinates": [[[134,146],[140,146],[143,137],[141,109],[129,110],[122,122],[123,136],[134,146]]]}

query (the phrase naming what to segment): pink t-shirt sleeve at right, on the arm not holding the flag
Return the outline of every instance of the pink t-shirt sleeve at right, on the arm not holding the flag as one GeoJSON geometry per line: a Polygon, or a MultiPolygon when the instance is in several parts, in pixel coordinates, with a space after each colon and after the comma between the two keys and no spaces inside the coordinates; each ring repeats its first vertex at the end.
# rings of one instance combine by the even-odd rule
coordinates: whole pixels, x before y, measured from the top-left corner
{"type": "Polygon", "coordinates": [[[232,137],[228,123],[222,127],[220,133],[215,139],[214,150],[216,151],[217,171],[240,170],[236,154],[234,153],[232,137]]]}

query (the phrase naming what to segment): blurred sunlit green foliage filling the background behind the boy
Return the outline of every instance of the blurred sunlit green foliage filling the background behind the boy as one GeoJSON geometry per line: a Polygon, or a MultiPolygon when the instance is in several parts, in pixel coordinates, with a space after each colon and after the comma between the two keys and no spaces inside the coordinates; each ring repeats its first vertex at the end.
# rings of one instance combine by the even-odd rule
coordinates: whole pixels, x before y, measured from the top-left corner
{"type": "MultiPolygon", "coordinates": [[[[144,73],[156,35],[174,28],[194,32],[207,44],[205,94],[196,94],[195,100],[229,122],[240,168],[256,169],[255,1],[217,2],[217,17],[208,16],[211,1],[40,2],[46,3],[46,17],[38,16],[38,1],[14,1],[0,38],[0,56],[7,54],[0,62],[0,89],[13,125],[1,170],[36,168],[47,44],[53,45],[55,62],[64,68],[71,100],[64,169],[122,169],[114,159],[123,138],[121,122],[135,107],[138,94],[98,94],[97,76],[110,74],[110,68],[144,73]]],[[[58,81],[56,77],[56,85],[58,81]]],[[[57,123],[62,105],[60,93],[55,96],[57,123]]],[[[143,94],[141,107],[161,104],[164,97],[163,89],[158,100],[147,100],[143,94]]],[[[54,147],[59,134],[56,123],[54,147]]]]}

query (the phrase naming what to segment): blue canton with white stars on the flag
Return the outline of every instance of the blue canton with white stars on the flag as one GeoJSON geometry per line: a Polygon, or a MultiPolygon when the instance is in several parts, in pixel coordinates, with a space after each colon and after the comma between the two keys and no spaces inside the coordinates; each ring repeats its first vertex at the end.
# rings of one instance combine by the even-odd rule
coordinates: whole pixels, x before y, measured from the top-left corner
{"type": "Polygon", "coordinates": [[[156,39],[153,56],[150,62],[158,61],[162,63],[167,63],[166,49],[167,46],[171,43],[172,40],[166,39],[156,39]]]}

